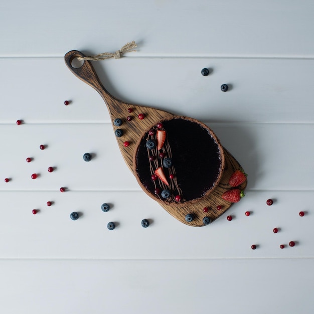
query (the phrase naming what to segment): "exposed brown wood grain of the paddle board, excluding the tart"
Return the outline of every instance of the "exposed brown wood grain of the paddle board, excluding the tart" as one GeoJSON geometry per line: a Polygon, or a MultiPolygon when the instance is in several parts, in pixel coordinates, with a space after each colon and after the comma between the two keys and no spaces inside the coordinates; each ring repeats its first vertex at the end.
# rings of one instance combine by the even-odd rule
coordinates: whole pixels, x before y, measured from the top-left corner
{"type": "MultiPolygon", "coordinates": [[[[135,171],[135,154],[136,149],[139,145],[139,141],[144,136],[144,134],[151,128],[153,128],[158,122],[169,120],[170,118],[178,118],[175,115],[150,108],[138,105],[131,105],[124,102],[119,101],[112,95],[110,95],[105,87],[100,82],[92,64],[90,61],[84,61],[80,67],[74,67],[72,65],[73,61],[77,57],[85,57],[80,51],[72,50],[65,55],[65,63],[71,72],[77,76],[79,79],[93,87],[103,98],[105,101],[109,113],[111,115],[112,125],[115,130],[119,129],[123,131],[122,136],[117,136],[117,142],[121,151],[121,154],[124,158],[124,161],[133,175],[137,178],[137,173],[135,171]],[[128,109],[131,108],[132,119],[130,121],[126,121],[126,116],[129,115],[128,109]],[[138,116],[142,114],[143,119],[139,119],[138,116]],[[116,118],[122,118],[124,123],[122,126],[115,127],[114,120],[116,118]],[[125,123],[126,122],[126,123],[125,123]],[[125,126],[127,125],[127,126],[125,126]],[[125,147],[124,141],[129,141],[130,145],[125,147]]],[[[200,123],[194,120],[196,123],[200,123]]],[[[209,129],[206,125],[202,123],[203,127],[208,129],[208,132],[214,133],[211,129],[209,129]]],[[[210,208],[210,212],[207,216],[210,217],[211,222],[217,219],[220,215],[222,215],[226,210],[230,208],[232,205],[231,202],[227,202],[222,199],[222,194],[228,190],[230,190],[230,186],[228,186],[228,180],[231,177],[232,173],[235,170],[241,170],[242,167],[239,163],[233,158],[233,156],[226,152],[226,150],[222,150],[220,143],[218,142],[220,153],[221,153],[221,170],[218,177],[218,180],[214,187],[207,192],[200,199],[194,200],[193,202],[182,202],[182,203],[169,203],[163,201],[161,198],[156,197],[152,193],[148,193],[141,182],[138,180],[141,188],[154,200],[158,201],[163,208],[167,210],[173,217],[178,219],[179,221],[194,227],[204,226],[203,217],[204,212],[203,208],[210,208]],[[226,155],[226,163],[225,163],[225,155],[226,155]],[[226,166],[225,166],[226,164],[226,166]],[[217,186],[218,184],[218,186],[217,186]],[[222,206],[222,210],[217,210],[217,206],[222,206]],[[194,219],[191,222],[186,221],[186,215],[192,214],[194,219]]],[[[244,190],[247,185],[247,182],[243,183],[239,188],[244,190]]]]}

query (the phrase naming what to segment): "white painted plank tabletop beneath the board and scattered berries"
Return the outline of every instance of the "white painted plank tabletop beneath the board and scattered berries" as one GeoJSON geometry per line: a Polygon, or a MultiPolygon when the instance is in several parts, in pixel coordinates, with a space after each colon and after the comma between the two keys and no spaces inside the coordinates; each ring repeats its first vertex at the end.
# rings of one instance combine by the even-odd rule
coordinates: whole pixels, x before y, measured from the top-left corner
{"type": "Polygon", "coordinates": [[[309,0],[2,2],[0,311],[312,313],[313,14],[309,0]],[[101,97],[64,64],[131,40],[136,53],[94,63],[108,91],[205,122],[248,173],[209,226],[140,190],[101,97]]]}

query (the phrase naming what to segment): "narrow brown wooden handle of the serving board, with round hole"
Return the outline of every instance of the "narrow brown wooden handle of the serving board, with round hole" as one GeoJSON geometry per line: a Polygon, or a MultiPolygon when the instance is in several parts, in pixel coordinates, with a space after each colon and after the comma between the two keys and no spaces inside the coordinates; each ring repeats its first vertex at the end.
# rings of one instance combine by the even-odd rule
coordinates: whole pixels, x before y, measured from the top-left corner
{"type": "Polygon", "coordinates": [[[100,82],[94,67],[88,60],[82,60],[83,64],[80,67],[74,67],[72,62],[75,58],[84,58],[85,55],[78,50],[71,50],[64,56],[64,61],[70,71],[80,80],[96,89],[96,91],[106,100],[110,94],[106,91],[100,82]]]}

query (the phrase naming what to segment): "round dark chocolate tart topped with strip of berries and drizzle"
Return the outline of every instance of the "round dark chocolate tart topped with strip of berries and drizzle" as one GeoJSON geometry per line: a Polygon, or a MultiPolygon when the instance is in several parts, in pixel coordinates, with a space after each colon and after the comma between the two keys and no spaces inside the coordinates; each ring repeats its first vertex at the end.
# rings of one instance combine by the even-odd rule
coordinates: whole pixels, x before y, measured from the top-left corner
{"type": "Polygon", "coordinates": [[[143,190],[165,203],[193,202],[208,195],[224,169],[224,150],[204,123],[171,117],[139,140],[134,174],[143,190]]]}

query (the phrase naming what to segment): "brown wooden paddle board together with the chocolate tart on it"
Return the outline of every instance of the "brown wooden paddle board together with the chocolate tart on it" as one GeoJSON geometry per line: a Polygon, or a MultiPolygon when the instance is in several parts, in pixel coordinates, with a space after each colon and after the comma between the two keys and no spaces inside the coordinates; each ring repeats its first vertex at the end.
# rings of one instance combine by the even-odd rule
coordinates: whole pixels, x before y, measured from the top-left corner
{"type": "MultiPolygon", "coordinates": [[[[189,226],[204,226],[204,217],[213,222],[227,211],[232,203],[221,196],[231,189],[230,176],[242,167],[214,132],[193,118],[116,99],[90,61],[84,60],[79,68],[72,66],[77,57],[85,56],[72,50],[65,55],[65,63],[105,101],[122,156],[143,191],[189,226]],[[193,219],[187,221],[187,215],[193,219]]],[[[239,189],[246,185],[247,181],[239,189]]]]}

